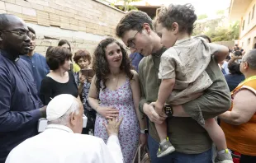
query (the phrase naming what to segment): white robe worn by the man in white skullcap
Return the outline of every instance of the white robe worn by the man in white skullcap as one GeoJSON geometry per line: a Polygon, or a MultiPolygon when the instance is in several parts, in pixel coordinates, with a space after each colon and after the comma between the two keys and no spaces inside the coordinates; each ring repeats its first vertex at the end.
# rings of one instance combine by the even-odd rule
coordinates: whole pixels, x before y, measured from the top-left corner
{"type": "Polygon", "coordinates": [[[45,132],[26,139],[7,156],[6,163],[122,163],[118,137],[107,145],[101,138],[73,133],[64,126],[50,124],[45,132]]]}

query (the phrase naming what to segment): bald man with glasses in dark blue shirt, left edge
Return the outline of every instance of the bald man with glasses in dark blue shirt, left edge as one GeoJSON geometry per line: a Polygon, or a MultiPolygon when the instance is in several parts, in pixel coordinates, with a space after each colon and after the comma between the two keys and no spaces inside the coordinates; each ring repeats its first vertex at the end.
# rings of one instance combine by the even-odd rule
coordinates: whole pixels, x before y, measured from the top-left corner
{"type": "Polygon", "coordinates": [[[28,35],[19,17],[0,14],[0,163],[19,143],[37,134],[38,119],[46,114],[32,70],[19,58],[30,51],[28,35]]]}

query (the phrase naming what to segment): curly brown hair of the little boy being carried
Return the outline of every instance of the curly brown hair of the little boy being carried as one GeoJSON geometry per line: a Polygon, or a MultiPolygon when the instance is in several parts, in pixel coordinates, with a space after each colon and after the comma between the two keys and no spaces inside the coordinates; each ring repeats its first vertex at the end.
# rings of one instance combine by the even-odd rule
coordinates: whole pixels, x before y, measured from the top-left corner
{"type": "Polygon", "coordinates": [[[194,29],[194,22],[197,20],[195,9],[191,4],[185,5],[169,5],[168,7],[161,7],[156,22],[161,23],[162,26],[168,30],[173,30],[173,23],[178,23],[178,30],[187,32],[192,35],[194,29]]]}

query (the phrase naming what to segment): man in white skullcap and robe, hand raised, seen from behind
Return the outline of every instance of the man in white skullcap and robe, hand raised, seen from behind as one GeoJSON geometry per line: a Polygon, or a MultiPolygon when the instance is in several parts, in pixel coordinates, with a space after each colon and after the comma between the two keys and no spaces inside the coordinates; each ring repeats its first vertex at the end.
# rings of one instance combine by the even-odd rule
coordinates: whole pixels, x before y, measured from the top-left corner
{"type": "Polygon", "coordinates": [[[7,156],[6,163],[122,163],[117,138],[120,119],[105,124],[107,145],[101,138],[80,134],[83,105],[73,95],[58,95],[46,109],[48,125],[43,133],[26,139],[7,156]]]}

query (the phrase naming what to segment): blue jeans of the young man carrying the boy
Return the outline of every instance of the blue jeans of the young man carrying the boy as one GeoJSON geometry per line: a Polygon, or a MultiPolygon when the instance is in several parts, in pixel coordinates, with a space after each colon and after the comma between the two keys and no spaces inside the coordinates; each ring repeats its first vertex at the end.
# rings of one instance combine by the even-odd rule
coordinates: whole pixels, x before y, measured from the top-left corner
{"type": "Polygon", "coordinates": [[[200,154],[185,154],[174,151],[168,156],[158,158],[156,152],[159,149],[159,142],[149,136],[148,145],[151,163],[212,163],[211,149],[200,154]]]}

